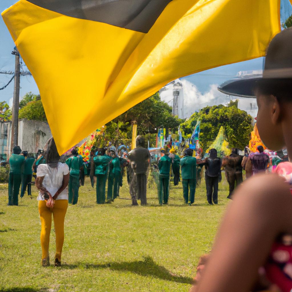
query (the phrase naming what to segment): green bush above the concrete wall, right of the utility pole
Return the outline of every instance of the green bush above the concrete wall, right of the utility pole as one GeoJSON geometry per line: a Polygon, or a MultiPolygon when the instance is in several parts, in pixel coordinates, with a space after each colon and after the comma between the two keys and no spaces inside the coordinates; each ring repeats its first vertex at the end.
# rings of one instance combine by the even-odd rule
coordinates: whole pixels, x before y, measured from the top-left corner
{"type": "Polygon", "coordinates": [[[37,120],[47,122],[45,110],[41,100],[28,102],[19,110],[19,119],[37,120]]]}

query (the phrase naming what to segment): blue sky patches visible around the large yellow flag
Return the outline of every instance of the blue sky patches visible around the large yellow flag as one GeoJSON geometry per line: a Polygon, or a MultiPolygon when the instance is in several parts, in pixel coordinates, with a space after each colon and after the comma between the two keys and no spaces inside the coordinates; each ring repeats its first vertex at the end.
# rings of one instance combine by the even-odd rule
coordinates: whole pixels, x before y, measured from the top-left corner
{"type": "MultiPolygon", "coordinates": [[[[0,11],[2,12],[9,6],[13,5],[17,0],[0,0],[0,11]]],[[[284,22],[292,14],[292,6],[289,0],[281,1],[281,22],[284,22]]],[[[14,43],[0,17],[0,70],[14,71],[14,56],[11,54],[13,51],[14,43]]],[[[236,76],[239,71],[260,70],[263,67],[263,58],[249,60],[245,62],[239,62],[231,65],[225,65],[213,69],[209,69],[197,74],[184,77],[186,81],[194,84],[197,90],[205,94],[210,91],[212,85],[221,84],[224,81],[236,76]]],[[[24,62],[22,62],[22,68],[27,70],[24,62]]],[[[8,83],[12,75],[0,74],[0,88],[8,83]]],[[[20,78],[20,97],[25,93],[32,91],[32,93],[39,93],[39,90],[34,82],[32,76],[22,76],[20,78]]],[[[13,82],[11,82],[4,90],[0,90],[0,101],[12,100],[13,98],[13,82]]],[[[215,100],[214,100],[215,102],[215,100]]],[[[210,104],[211,105],[211,104],[210,104]]]]}

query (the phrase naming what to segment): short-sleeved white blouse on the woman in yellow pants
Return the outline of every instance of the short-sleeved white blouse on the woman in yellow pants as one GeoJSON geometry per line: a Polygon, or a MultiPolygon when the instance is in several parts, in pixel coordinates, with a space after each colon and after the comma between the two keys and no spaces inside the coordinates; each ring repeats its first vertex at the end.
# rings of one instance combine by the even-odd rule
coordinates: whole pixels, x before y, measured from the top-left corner
{"type": "MultiPolygon", "coordinates": [[[[69,173],[69,167],[66,163],[58,163],[57,167],[50,167],[48,164],[40,164],[36,171],[36,176],[44,176],[43,187],[48,190],[52,197],[60,189],[63,183],[63,176],[69,173]]],[[[38,201],[44,201],[44,194],[39,191],[38,201]]],[[[68,200],[68,190],[65,188],[57,200],[68,200]]]]}

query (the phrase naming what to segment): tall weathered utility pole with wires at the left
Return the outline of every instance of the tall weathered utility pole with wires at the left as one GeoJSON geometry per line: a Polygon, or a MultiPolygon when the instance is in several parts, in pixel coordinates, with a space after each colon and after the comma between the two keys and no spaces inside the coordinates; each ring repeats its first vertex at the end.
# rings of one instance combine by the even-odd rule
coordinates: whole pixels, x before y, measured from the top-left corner
{"type": "Polygon", "coordinates": [[[15,55],[15,71],[14,71],[14,91],[13,91],[13,105],[12,105],[12,124],[11,124],[11,153],[13,147],[18,144],[18,110],[19,110],[19,89],[20,89],[20,63],[19,52],[15,47],[11,53],[15,55]]]}

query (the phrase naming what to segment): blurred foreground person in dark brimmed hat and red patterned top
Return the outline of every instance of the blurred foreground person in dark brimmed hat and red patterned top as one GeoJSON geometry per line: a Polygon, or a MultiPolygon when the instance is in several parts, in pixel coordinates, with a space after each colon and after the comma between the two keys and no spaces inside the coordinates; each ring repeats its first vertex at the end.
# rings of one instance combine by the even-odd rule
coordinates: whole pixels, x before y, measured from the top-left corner
{"type": "MultiPolygon", "coordinates": [[[[263,76],[232,81],[231,95],[256,96],[257,126],[268,149],[287,148],[292,159],[292,27],[267,49],[263,76]],[[232,84],[233,83],[233,84],[232,84]]],[[[259,173],[233,194],[215,237],[212,256],[191,292],[292,289],[292,165],[259,173]],[[259,282],[259,280],[262,281],[259,282]],[[259,285],[260,284],[260,285],[259,285]]]]}

